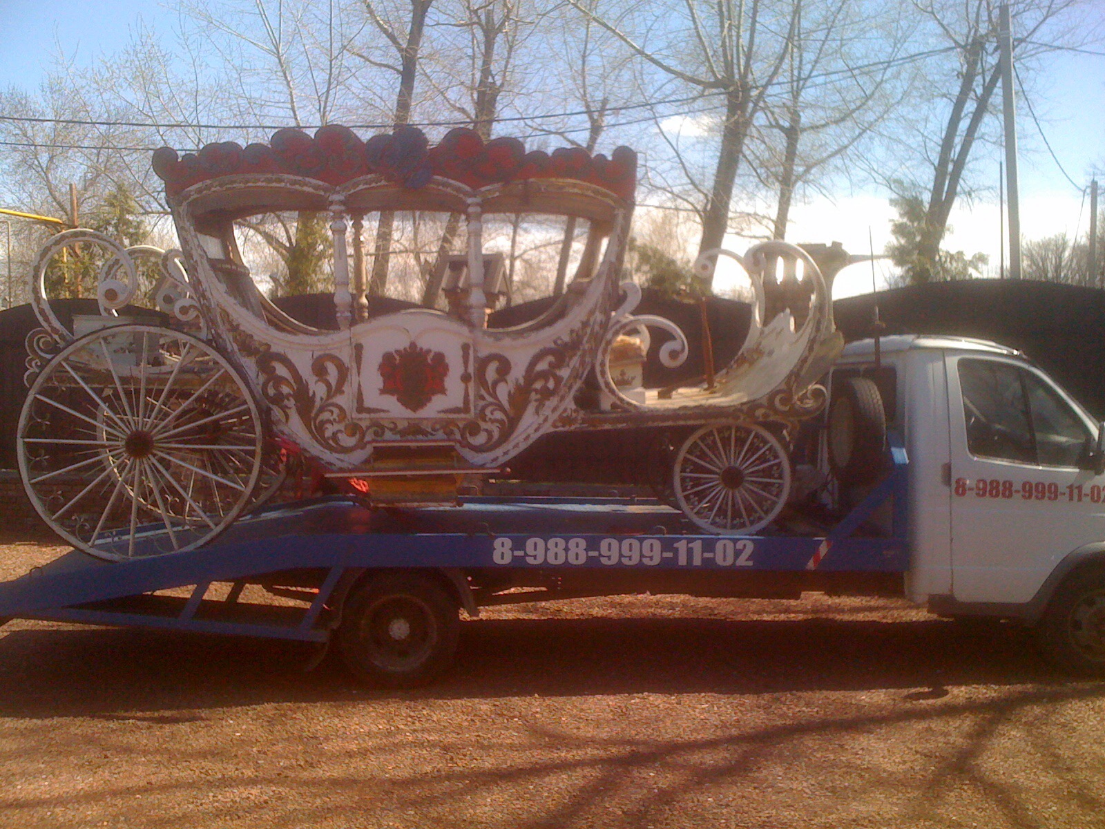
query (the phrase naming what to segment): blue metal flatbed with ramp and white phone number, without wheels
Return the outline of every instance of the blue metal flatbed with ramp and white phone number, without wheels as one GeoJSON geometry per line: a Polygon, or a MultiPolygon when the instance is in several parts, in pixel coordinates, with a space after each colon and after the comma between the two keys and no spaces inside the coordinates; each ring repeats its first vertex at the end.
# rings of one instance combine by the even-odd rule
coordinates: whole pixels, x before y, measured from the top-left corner
{"type": "MultiPolygon", "coordinates": [[[[691,535],[682,532],[678,512],[652,500],[476,497],[460,506],[370,511],[328,497],[261,510],[186,553],[108,563],[74,550],[0,584],[0,618],[327,642],[350,588],[380,573],[432,571],[471,616],[481,605],[534,598],[476,595],[474,577],[506,570],[523,581],[534,571],[549,578],[571,574],[577,584],[601,580],[602,573],[636,574],[661,586],[652,592],[688,591],[681,588],[687,574],[696,574],[690,578],[699,585],[790,574],[806,589],[832,584],[834,576],[901,576],[909,565],[907,461],[898,447],[891,455],[887,476],[824,534],[691,535]],[[892,532],[859,534],[878,510],[890,511],[892,532]],[[207,598],[217,583],[229,591],[207,598]],[[240,601],[250,584],[301,605],[240,601]],[[187,596],[160,592],[181,587],[192,589],[187,596]]],[[[579,595],[624,591],[638,590],[579,595]]]]}

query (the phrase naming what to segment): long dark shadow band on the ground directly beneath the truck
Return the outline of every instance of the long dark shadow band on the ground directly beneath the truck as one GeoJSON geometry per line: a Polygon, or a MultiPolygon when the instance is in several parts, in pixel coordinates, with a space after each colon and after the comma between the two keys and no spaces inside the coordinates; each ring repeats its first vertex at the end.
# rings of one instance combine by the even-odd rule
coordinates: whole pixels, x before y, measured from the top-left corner
{"type": "MultiPolygon", "coordinates": [[[[305,646],[122,629],[23,629],[0,638],[0,716],[202,712],[392,695],[494,699],[625,693],[760,694],[1060,682],[1009,625],[813,618],[474,620],[457,665],[413,692],[359,688],[305,646]]],[[[0,631],[2,633],[3,631],[0,631]]],[[[919,689],[919,690],[918,690],[919,689]]],[[[199,714],[201,716],[201,714],[199,714]]]]}

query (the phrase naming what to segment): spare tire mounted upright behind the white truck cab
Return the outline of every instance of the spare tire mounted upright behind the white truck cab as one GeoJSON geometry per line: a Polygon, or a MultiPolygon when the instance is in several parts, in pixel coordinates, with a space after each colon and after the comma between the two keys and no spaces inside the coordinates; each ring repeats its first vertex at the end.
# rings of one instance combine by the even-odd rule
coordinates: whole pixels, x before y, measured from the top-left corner
{"type": "Polygon", "coordinates": [[[829,468],[849,486],[878,480],[886,449],[886,413],[878,387],[866,377],[833,384],[829,406],[829,468]]]}

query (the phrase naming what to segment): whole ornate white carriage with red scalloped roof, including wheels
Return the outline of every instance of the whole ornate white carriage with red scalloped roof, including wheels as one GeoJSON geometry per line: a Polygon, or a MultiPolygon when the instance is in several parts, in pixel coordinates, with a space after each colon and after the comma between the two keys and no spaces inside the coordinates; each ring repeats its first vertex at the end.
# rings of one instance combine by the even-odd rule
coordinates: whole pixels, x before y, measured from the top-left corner
{"type": "MultiPolygon", "coordinates": [[[[737,258],[755,288],[739,354],[707,381],[641,388],[650,327],[667,332],[667,366],[688,344],[671,322],[634,316],[640,290],[622,282],[632,150],[526,153],[466,129],[436,146],[413,128],[362,141],[328,126],[183,158],[162,149],[154,167],[182,253],[73,230],[34,267],[42,329],[30,343],[20,469],[35,508],[74,546],[104,558],[200,546],[275,489],[290,451],[361,483],[373,503],[424,503],[453,499],[550,430],[643,423],[701,427],[673,471],[678,506],[698,526],[756,529],[786,502],[785,443],[823,403],[814,382],[836,344],[818,267],[782,242],[737,258]],[[246,266],[241,229],[290,214],[328,225],[330,327],[281,311],[246,266]],[[445,283],[448,309],[431,300],[381,313],[368,295],[388,258],[375,258],[370,277],[366,235],[386,250],[397,216],[412,234],[438,232],[415,272],[445,283]],[[509,279],[490,249],[512,222],[517,237],[519,217],[566,227],[575,275],[536,318],[490,326],[509,279]],[[93,249],[99,313],[69,322],[51,287],[66,267],[87,267],[93,249]],[[592,403],[578,393],[587,378],[601,388],[592,403]]],[[[699,260],[705,277],[722,253],[699,260]]]]}

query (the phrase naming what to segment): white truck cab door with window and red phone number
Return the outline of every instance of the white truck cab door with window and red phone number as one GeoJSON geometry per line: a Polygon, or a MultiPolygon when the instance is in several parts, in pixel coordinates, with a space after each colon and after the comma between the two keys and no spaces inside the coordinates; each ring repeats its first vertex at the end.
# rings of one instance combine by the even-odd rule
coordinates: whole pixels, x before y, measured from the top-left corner
{"type": "Polygon", "coordinates": [[[1080,469],[1088,416],[1041,371],[948,357],[953,592],[1024,602],[1054,565],[1105,537],[1105,478],[1080,469]]]}

